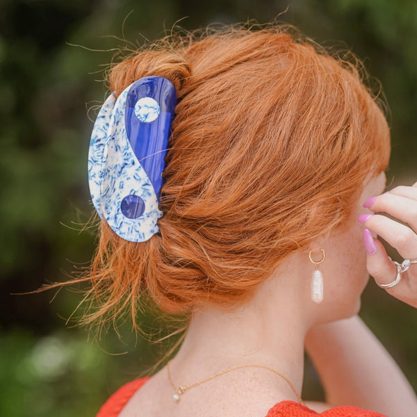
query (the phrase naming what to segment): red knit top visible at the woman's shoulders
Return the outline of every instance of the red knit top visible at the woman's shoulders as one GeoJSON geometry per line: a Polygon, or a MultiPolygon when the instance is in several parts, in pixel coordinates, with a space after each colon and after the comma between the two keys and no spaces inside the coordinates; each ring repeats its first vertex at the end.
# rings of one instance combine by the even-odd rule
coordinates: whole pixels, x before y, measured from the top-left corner
{"type": "MultiPolygon", "coordinates": [[[[117,417],[131,396],[147,382],[149,378],[136,379],[122,386],[101,407],[96,417],[117,417]]],[[[265,417],[385,417],[375,411],[366,411],[357,407],[336,407],[321,414],[294,401],[281,401],[275,404],[265,417]]]]}

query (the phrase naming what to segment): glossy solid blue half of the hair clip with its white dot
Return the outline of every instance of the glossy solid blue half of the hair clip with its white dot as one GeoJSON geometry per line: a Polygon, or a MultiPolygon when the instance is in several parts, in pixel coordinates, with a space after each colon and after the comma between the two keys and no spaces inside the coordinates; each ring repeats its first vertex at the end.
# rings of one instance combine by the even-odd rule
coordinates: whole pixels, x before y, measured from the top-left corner
{"type": "Polygon", "coordinates": [[[174,85],[160,76],[147,76],[136,81],[126,97],[126,135],[158,199],[175,106],[174,85]]]}

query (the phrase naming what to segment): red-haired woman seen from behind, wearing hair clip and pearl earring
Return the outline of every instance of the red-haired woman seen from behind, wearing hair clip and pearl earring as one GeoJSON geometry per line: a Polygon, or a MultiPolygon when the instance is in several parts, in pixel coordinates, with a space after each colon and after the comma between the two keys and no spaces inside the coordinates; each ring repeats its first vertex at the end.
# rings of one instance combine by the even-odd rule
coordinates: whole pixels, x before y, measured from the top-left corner
{"type": "Polygon", "coordinates": [[[417,306],[417,187],[382,194],[389,128],[357,65],[291,28],[229,28],[138,51],[109,81],[89,156],[103,221],[87,320],[129,306],[134,321],[150,296],[190,324],[168,366],[98,416],[417,415],[356,316],[367,264],[417,306]],[[300,404],[304,347],[327,404],[300,404]]]}

